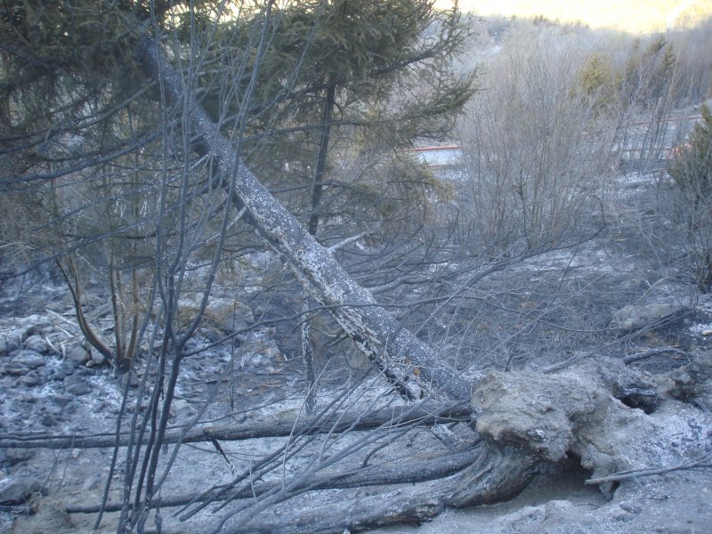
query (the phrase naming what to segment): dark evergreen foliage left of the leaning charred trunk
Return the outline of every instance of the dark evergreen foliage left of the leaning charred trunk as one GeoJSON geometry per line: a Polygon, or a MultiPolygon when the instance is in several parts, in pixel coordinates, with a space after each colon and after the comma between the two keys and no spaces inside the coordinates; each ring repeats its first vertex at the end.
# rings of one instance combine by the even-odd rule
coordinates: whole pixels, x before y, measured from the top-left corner
{"type": "MultiPolygon", "coordinates": [[[[220,5],[191,4],[203,20],[220,5]]],[[[224,201],[136,61],[142,36],[162,32],[176,36],[166,46],[180,57],[190,45],[176,30],[181,7],[17,0],[0,9],[3,259],[58,263],[77,318],[85,287],[109,297],[112,348],[92,344],[119,368],[134,357],[151,286],[174,274],[169,266],[184,268],[186,243],[206,239],[224,201]]]]}

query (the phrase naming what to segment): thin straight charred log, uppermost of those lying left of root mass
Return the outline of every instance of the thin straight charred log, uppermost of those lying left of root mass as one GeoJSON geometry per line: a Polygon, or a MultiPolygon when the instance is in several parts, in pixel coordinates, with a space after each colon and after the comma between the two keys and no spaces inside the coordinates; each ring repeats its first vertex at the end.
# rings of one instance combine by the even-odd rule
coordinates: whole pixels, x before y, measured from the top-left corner
{"type": "MultiPolygon", "coordinates": [[[[270,423],[257,425],[249,422],[234,426],[200,427],[182,435],[180,428],[174,428],[166,433],[164,443],[196,443],[199,441],[242,441],[258,438],[279,438],[295,435],[310,435],[317,433],[340,433],[349,431],[364,431],[388,425],[439,425],[453,421],[468,421],[470,406],[464,402],[451,402],[446,405],[425,402],[416,406],[399,406],[380,409],[369,413],[336,413],[317,420],[305,419],[297,422],[291,417],[276,419],[270,423]]],[[[119,445],[129,442],[128,434],[123,434],[119,445]]],[[[26,436],[18,434],[0,436],[0,449],[101,449],[116,445],[115,434],[97,436],[26,436]]]]}

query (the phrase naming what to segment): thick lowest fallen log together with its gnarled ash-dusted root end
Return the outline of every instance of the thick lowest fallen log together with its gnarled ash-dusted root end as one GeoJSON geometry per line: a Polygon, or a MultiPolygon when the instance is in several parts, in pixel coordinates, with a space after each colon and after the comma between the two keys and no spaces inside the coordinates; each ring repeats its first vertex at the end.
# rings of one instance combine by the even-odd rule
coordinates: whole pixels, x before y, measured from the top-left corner
{"type": "MultiPolygon", "coordinates": [[[[667,464],[689,454],[687,449],[712,446],[706,431],[712,417],[690,405],[662,396],[657,405],[650,405],[651,414],[627,405],[631,392],[643,392],[650,401],[654,386],[650,376],[604,358],[553,375],[491,371],[473,388],[482,454],[459,473],[417,486],[391,486],[378,496],[329,506],[282,506],[279,514],[272,506],[293,495],[285,492],[281,499],[272,495],[269,506],[257,499],[255,505],[262,504],[262,509],[233,511],[211,531],[341,533],[400,522],[418,524],[446,506],[512,498],[538,466],[568,457],[579,458],[594,477],[606,482],[612,473],[667,464]],[[692,417],[689,424],[684,417],[692,417]]],[[[609,489],[610,484],[603,483],[602,490],[609,489]]],[[[189,522],[171,531],[194,528],[189,522]]]]}

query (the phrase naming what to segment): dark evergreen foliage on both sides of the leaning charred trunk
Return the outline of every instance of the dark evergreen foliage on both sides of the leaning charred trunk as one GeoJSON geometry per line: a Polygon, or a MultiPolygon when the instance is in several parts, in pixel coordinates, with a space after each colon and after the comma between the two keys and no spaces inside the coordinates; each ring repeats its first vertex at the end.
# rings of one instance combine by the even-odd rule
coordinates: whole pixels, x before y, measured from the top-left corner
{"type": "Polygon", "coordinates": [[[101,275],[130,337],[151,284],[221,250],[223,189],[135,60],[144,36],[314,231],[417,228],[438,183],[393,149],[453,125],[472,93],[449,65],[464,35],[428,0],[4,2],[4,257],[58,260],[79,295],[74,274],[101,275]]]}

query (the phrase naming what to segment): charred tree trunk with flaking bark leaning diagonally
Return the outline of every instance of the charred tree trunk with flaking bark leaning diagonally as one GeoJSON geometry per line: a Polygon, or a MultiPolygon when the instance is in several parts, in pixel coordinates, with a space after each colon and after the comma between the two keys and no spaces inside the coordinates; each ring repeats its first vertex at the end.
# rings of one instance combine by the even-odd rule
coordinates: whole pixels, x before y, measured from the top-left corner
{"type": "Polygon", "coordinates": [[[279,251],[295,275],[308,283],[312,296],[329,306],[339,325],[393,387],[408,399],[435,393],[469,399],[469,385],[456,376],[454,369],[385,312],[255,178],[218,125],[185,90],[182,77],[172,69],[154,39],[142,39],[138,59],[147,75],[163,88],[168,101],[183,102],[190,110],[196,142],[207,147],[223,174],[223,183],[234,187],[258,233],[279,251]]]}

